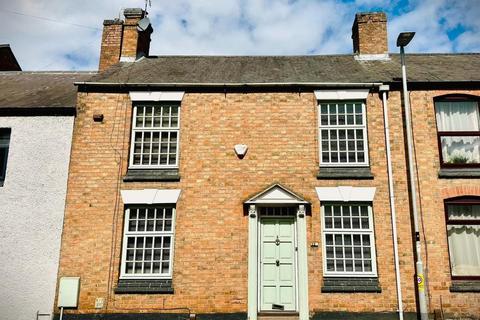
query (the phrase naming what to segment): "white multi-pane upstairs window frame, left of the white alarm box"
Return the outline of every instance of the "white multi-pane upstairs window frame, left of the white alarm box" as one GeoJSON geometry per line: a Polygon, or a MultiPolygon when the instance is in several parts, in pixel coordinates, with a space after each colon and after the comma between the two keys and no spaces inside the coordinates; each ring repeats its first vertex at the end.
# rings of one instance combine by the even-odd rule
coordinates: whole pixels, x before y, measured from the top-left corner
{"type": "MultiPolygon", "coordinates": [[[[152,111],[153,112],[153,111],[152,111]]],[[[163,111],[162,111],[163,112],[163,111]]],[[[131,136],[130,136],[130,161],[129,161],[129,169],[174,169],[178,168],[178,163],[179,163],[179,155],[180,155],[180,121],[181,121],[181,103],[180,101],[161,101],[161,102],[151,102],[151,101],[145,101],[145,102],[135,102],[133,104],[133,112],[132,112],[132,130],[131,130],[131,136]],[[168,128],[136,128],[136,118],[137,118],[137,107],[145,107],[145,106],[177,106],[178,107],[178,121],[177,121],[177,126],[176,127],[168,127],[168,128]],[[176,132],[177,133],[177,150],[175,154],[175,164],[163,164],[163,165],[145,165],[145,164],[134,164],[134,151],[135,151],[135,133],[136,132],[158,132],[160,134],[160,140],[159,140],[159,148],[161,148],[161,135],[162,132],[176,132]]],[[[152,143],[150,142],[150,148],[152,146],[152,143]]],[[[168,146],[168,149],[170,150],[170,143],[168,146]]],[[[142,143],[142,151],[143,151],[143,143],[142,143]]],[[[169,153],[168,153],[169,154],[169,153]]],[[[143,155],[143,153],[141,153],[143,155]]],[[[167,156],[167,161],[168,161],[168,156],[167,156]]]]}

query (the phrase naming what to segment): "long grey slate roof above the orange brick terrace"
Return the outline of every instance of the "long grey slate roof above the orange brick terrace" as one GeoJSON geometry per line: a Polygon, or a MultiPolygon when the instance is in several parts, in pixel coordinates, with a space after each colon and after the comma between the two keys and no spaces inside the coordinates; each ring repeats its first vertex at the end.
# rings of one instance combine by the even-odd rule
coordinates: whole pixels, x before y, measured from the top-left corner
{"type": "MultiPolygon", "coordinates": [[[[157,56],[119,63],[95,84],[308,84],[398,82],[400,57],[360,61],[354,55],[157,56]]],[[[480,53],[408,54],[410,82],[480,81],[480,53]]]]}

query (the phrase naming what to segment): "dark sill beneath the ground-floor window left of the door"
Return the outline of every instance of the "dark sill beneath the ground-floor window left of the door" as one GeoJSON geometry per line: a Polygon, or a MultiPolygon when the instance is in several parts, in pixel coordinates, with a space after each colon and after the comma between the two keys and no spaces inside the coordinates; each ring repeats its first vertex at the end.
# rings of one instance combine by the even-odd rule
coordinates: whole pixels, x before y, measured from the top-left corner
{"type": "Polygon", "coordinates": [[[171,279],[120,279],[115,293],[173,293],[171,279]]]}

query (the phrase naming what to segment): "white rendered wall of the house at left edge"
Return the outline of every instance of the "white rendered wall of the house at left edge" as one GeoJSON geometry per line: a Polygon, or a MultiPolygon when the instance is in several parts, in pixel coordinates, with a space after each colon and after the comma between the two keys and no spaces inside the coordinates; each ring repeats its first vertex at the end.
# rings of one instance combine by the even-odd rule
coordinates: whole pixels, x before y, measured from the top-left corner
{"type": "Polygon", "coordinates": [[[52,312],[73,121],[0,117],[12,129],[0,187],[0,319],[52,312]]]}

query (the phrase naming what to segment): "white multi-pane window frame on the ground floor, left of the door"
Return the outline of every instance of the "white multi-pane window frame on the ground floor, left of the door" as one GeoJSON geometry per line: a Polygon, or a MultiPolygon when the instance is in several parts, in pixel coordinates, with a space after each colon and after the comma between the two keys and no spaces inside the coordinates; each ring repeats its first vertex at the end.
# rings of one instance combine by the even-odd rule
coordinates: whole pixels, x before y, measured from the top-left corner
{"type": "MultiPolygon", "coordinates": [[[[125,209],[125,219],[123,226],[123,242],[122,242],[122,258],[120,265],[120,279],[172,279],[173,275],[173,261],[175,248],[175,220],[176,220],[176,206],[174,204],[155,204],[155,205],[131,205],[125,209]],[[130,220],[130,210],[137,208],[172,208],[172,229],[171,231],[128,231],[128,224],[130,220]],[[126,273],[126,258],[127,258],[127,241],[129,236],[170,236],[170,256],[169,256],[169,272],[168,274],[127,274],[126,273]]],[[[163,249],[163,248],[162,248],[163,249]]],[[[153,250],[153,249],[152,249],[153,250]]],[[[153,255],[153,252],[152,252],[153,255]]],[[[161,267],[160,262],[160,267],[161,267]]]]}

